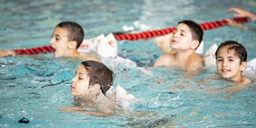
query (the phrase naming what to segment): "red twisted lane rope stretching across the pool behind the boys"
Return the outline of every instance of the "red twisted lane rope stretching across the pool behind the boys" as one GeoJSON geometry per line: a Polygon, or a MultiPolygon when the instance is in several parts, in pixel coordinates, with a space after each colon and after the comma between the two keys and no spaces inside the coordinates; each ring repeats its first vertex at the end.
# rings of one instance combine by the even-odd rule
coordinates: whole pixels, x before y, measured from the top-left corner
{"type": "MultiPolygon", "coordinates": [[[[233,18],[233,20],[237,22],[247,22],[247,17],[241,17],[241,18],[233,18]]],[[[203,30],[210,30],[213,28],[218,28],[221,26],[226,25],[227,21],[214,21],[214,22],[206,22],[201,23],[199,26],[203,30]]],[[[165,28],[155,31],[147,31],[147,32],[140,32],[140,33],[134,33],[134,34],[121,34],[121,35],[115,35],[116,40],[138,40],[138,39],[147,39],[154,36],[162,36],[165,34],[172,33],[174,31],[175,27],[173,28],[165,28]]],[[[51,46],[44,46],[44,47],[37,47],[37,48],[31,48],[31,49],[15,49],[14,50],[16,54],[38,54],[38,53],[47,53],[47,52],[53,52],[53,48],[51,46]]]]}

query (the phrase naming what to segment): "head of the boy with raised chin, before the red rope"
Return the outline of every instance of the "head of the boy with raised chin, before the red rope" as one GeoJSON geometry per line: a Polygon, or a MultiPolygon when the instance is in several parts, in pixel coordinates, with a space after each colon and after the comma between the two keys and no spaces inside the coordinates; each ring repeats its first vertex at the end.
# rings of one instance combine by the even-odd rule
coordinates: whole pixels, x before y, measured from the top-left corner
{"type": "Polygon", "coordinates": [[[203,39],[202,28],[194,21],[180,21],[170,38],[170,46],[177,52],[199,46],[203,39]]]}

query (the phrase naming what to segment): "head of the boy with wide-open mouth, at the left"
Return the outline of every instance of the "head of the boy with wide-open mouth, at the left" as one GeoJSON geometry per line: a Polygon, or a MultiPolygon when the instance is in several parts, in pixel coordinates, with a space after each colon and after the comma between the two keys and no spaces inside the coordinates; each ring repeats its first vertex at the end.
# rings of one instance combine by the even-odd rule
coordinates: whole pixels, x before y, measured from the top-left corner
{"type": "Polygon", "coordinates": [[[83,29],[74,22],[61,22],[53,31],[51,46],[55,49],[54,57],[70,57],[76,53],[84,38],[83,29]]]}

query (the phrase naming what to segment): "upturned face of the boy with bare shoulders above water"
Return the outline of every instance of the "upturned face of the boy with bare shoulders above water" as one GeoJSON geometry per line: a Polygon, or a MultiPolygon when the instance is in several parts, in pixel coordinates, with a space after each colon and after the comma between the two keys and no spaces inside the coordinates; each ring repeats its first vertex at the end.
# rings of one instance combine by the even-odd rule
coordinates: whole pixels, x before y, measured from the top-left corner
{"type": "Polygon", "coordinates": [[[187,24],[180,23],[176,26],[170,38],[170,46],[174,50],[187,50],[192,45],[192,33],[187,24]]]}

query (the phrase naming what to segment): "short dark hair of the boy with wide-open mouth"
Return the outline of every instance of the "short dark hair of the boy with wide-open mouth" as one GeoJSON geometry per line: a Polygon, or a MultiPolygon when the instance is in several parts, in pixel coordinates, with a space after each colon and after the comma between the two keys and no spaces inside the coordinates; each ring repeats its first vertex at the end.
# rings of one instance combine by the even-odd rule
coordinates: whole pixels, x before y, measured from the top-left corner
{"type": "Polygon", "coordinates": [[[61,22],[56,27],[65,28],[68,31],[68,41],[75,40],[77,42],[76,49],[83,42],[84,32],[80,25],[75,22],[61,22]]]}

